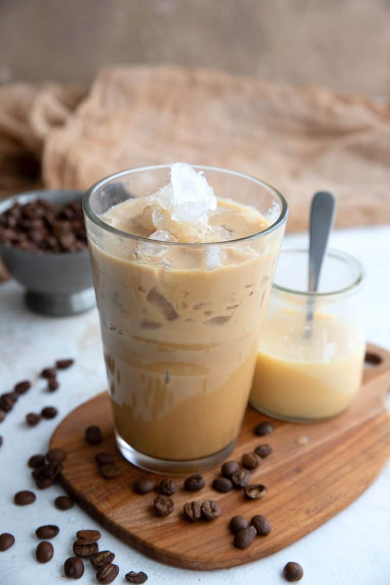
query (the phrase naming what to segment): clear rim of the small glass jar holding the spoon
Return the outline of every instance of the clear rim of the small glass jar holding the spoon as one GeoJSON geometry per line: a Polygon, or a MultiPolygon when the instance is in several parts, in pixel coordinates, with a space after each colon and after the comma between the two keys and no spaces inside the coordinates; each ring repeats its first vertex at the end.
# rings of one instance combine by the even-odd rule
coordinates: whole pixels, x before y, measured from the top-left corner
{"type": "MultiPolygon", "coordinates": [[[[300,253],[300,254],[306,254],[306,256],[309,258],[309,247],[308,246],[296,246],[296,247],[291,247],[291,248],[286,248],[286,249],[282,249],[279,253],[279,258],[281,257],[282,254],[288,254],[288,253],[300,253]]],[[[335,258],[337,260],[344,260],[347,261],[351,266],[354,266],[357,269],[357,273],[358,276],[357,278],[353,279],[353,282],[351,284],[348,284],[347,287],[343,287],[343,288],[337,288],[336,290],[332,290],[332,291],[328,291],[328,292],[309,292],[309,291],[300,291],[300,290],[296,290],[294,288],[291,287],[284,287],[280,284],[277,284],[274,280],[274,283],[272,284],[272,290],[275,290],[276,292],[284,292],[287,293],[289,295],[294,295],[296,297],[301,297],[301,298],[330,298],[330,297],[337,297],[339,295],[346,295],[349,294],[351,292],[356,292],[358,291],[361,286],[363,285],[364,281],[365,281],[365,277],[366,277],[366,273],[365,273],[365,269],[363,264],[361,263],[360,260],[358,260],[355,256],[352,256],[352,254],[348,254],[347,252],[344,252],[343,250],[338,250],[337,248],[329,248],[326,252],[326,256],[330,256],[332,258],[335,258]]],[[[308,261],[308,266],[309,266],[309,261],[308,261]]]]}

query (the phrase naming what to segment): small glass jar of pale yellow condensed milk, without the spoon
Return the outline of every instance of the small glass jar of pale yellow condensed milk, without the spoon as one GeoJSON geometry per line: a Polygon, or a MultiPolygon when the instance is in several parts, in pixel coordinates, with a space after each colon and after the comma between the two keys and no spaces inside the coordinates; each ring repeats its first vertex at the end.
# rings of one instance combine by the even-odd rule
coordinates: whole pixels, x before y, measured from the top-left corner
{"type": "Polygon", "coordinates": [[[348,408],[364,366],[363,267],[329,250],[319,291],[309,294],[308,260],[308,249],[279,256],[250,393],[258,411],[291,422],[318,421],[348,408]]]}

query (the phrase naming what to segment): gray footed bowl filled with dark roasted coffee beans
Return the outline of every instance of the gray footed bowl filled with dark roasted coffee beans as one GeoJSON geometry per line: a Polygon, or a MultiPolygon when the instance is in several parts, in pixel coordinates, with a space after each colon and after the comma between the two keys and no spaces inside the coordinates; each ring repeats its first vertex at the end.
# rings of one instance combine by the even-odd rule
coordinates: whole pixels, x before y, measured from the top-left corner
{"type": "Polygon", "coordinates": [[[33,311],[74,315],[95,305],[81,199],[39,190],[0,201],[0,256],[33,311]]]}

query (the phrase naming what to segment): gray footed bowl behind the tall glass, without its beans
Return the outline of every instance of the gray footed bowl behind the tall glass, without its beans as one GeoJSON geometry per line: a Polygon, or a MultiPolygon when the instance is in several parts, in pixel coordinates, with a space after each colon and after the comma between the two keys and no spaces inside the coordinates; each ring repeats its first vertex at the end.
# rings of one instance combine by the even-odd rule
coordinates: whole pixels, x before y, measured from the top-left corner
{"type": "MultiPolygon", "coordinates": [[[[80,201],[81,191],[37,190],[0,201],[0,214],[18,201],[47,199],[53,204],[80,201]]],[[[88,249],[81,252],[31,252],[0,242],[0,256],[15,280],[27,289],[26,302],[45,315],[74,315],[95,306],[88,249]]]]}

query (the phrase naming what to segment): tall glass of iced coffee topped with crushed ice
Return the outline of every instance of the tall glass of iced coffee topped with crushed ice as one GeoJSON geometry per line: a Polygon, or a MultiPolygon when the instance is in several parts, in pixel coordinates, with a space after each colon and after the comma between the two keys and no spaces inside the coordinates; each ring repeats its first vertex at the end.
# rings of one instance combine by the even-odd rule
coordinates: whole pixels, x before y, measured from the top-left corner
{"type": "Polygon", "coordinates": [[[187,473],[234,448],[287,219],[274,188],[219,168],[136,168],[84,198],[116,441],[187,473]]]}

